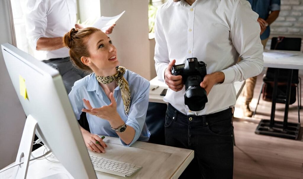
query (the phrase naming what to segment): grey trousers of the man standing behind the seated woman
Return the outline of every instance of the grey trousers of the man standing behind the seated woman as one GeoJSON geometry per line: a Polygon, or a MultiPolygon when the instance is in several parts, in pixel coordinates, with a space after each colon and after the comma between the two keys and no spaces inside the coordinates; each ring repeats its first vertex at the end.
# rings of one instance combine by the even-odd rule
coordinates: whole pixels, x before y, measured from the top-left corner
{"type": "Polygon", "coordinates": [[[75,67],[69,57],[43,60],[43,62],[59,71],[67,94],[72,90],[76,81],[88,75],[87,72],[75,67]]]}

